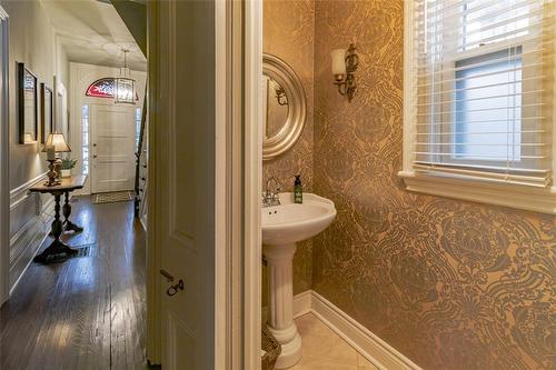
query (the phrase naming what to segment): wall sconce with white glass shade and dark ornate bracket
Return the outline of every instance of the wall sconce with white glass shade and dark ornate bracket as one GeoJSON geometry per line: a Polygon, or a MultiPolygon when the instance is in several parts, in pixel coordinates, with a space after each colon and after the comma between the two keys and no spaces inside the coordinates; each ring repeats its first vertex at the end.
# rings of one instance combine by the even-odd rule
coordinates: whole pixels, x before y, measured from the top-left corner
{"type": "Polygon", "coordinates": [[[349,44],[349,49],[336,49],[330,52],[332,58],[334,84],[338,86],[338,92],[347,96],[348,101],[354,99],[356,83],[354,72],[359,64],[359,57],[355,53],[355,44],[349,44]]]}

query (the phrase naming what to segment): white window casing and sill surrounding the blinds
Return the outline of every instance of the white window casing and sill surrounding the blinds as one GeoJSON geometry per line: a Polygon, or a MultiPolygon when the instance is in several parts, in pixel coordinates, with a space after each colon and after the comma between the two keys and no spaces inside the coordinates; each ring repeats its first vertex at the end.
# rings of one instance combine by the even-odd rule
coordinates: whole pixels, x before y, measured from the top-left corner
{"type": "MultiPolygon", "coordinates": [[[[552,186],[547,188],[535,188],[506,182],[481,181],[479,179],[464,179],[448,174],[433,174],[417,172],[414,168],[416,123],[417,123],[417,101],[415,91],[417,89],[416,78],[416,54],[415,54],[415,1],[404,2],[404,142],[403,142],[403,169],[398,176],[404,179],[406,190],[454,198],[466,201],[480,202],[485,204],[505,206],[515,209],[536,211],[542,213],[556,214],[556,93],[553,96],[553,130],[552,130],[552,152],[550,169],[553,174],[552,186]]],[[[516,38],[514,44],[520,44],[520,37],[516,38]]],[[[556,37],[553,40],[556,48],[556,37]]],[[[470,58],[471,56],[485,54],[489,51],[500,50],[496,44],[486,44],[485,48],[470,49],[458,53],[456,60],[470,58]],[[480,49],[480,50],[478,50],[480,49]]],[[[522,52],[524,52],[522,50],[522,52]]],[[[553,57],[553,91],[556,91],[556,53],[553,57]]],[[[522,76],[523,79],[523,76],[522,76]]],[[[522,86],[525,90],[525,87],[522,86]]]]}

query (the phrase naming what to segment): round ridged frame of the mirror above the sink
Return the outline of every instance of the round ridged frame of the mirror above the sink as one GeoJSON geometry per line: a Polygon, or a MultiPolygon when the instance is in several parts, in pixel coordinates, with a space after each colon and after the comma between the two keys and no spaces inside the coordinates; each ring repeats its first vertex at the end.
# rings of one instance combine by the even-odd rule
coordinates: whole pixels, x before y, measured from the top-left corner
{"type": "Polygon", "coordinates": [[[262,74],[280,84],[288,98],[288,118],[271,138],[262,138],[262,160],[274,159],[290,149],[301,136],[307,118],[304,87],[296,72],[280,58],[264,53],[262,74]]]}

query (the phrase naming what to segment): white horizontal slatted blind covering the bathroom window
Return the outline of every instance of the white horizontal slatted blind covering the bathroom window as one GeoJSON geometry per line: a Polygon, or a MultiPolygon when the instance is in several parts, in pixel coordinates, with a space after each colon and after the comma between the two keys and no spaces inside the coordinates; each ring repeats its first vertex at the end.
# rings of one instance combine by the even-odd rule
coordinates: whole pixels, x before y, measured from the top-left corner
{"type": "Polygon", "coordinates": [[[415,1],[416,172],[550,184],[553,6],[415,1]]]}

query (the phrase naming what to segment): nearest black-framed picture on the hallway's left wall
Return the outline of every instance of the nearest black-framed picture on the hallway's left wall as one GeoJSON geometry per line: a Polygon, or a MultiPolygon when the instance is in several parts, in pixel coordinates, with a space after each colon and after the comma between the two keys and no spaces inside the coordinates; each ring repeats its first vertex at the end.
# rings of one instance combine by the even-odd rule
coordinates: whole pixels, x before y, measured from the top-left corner
{"type": "Polygon", "coordinates": [[[37,76],[24,63],[18,63],[18,82],[19,142],[36,143],[39,120],[37,76]]]}

